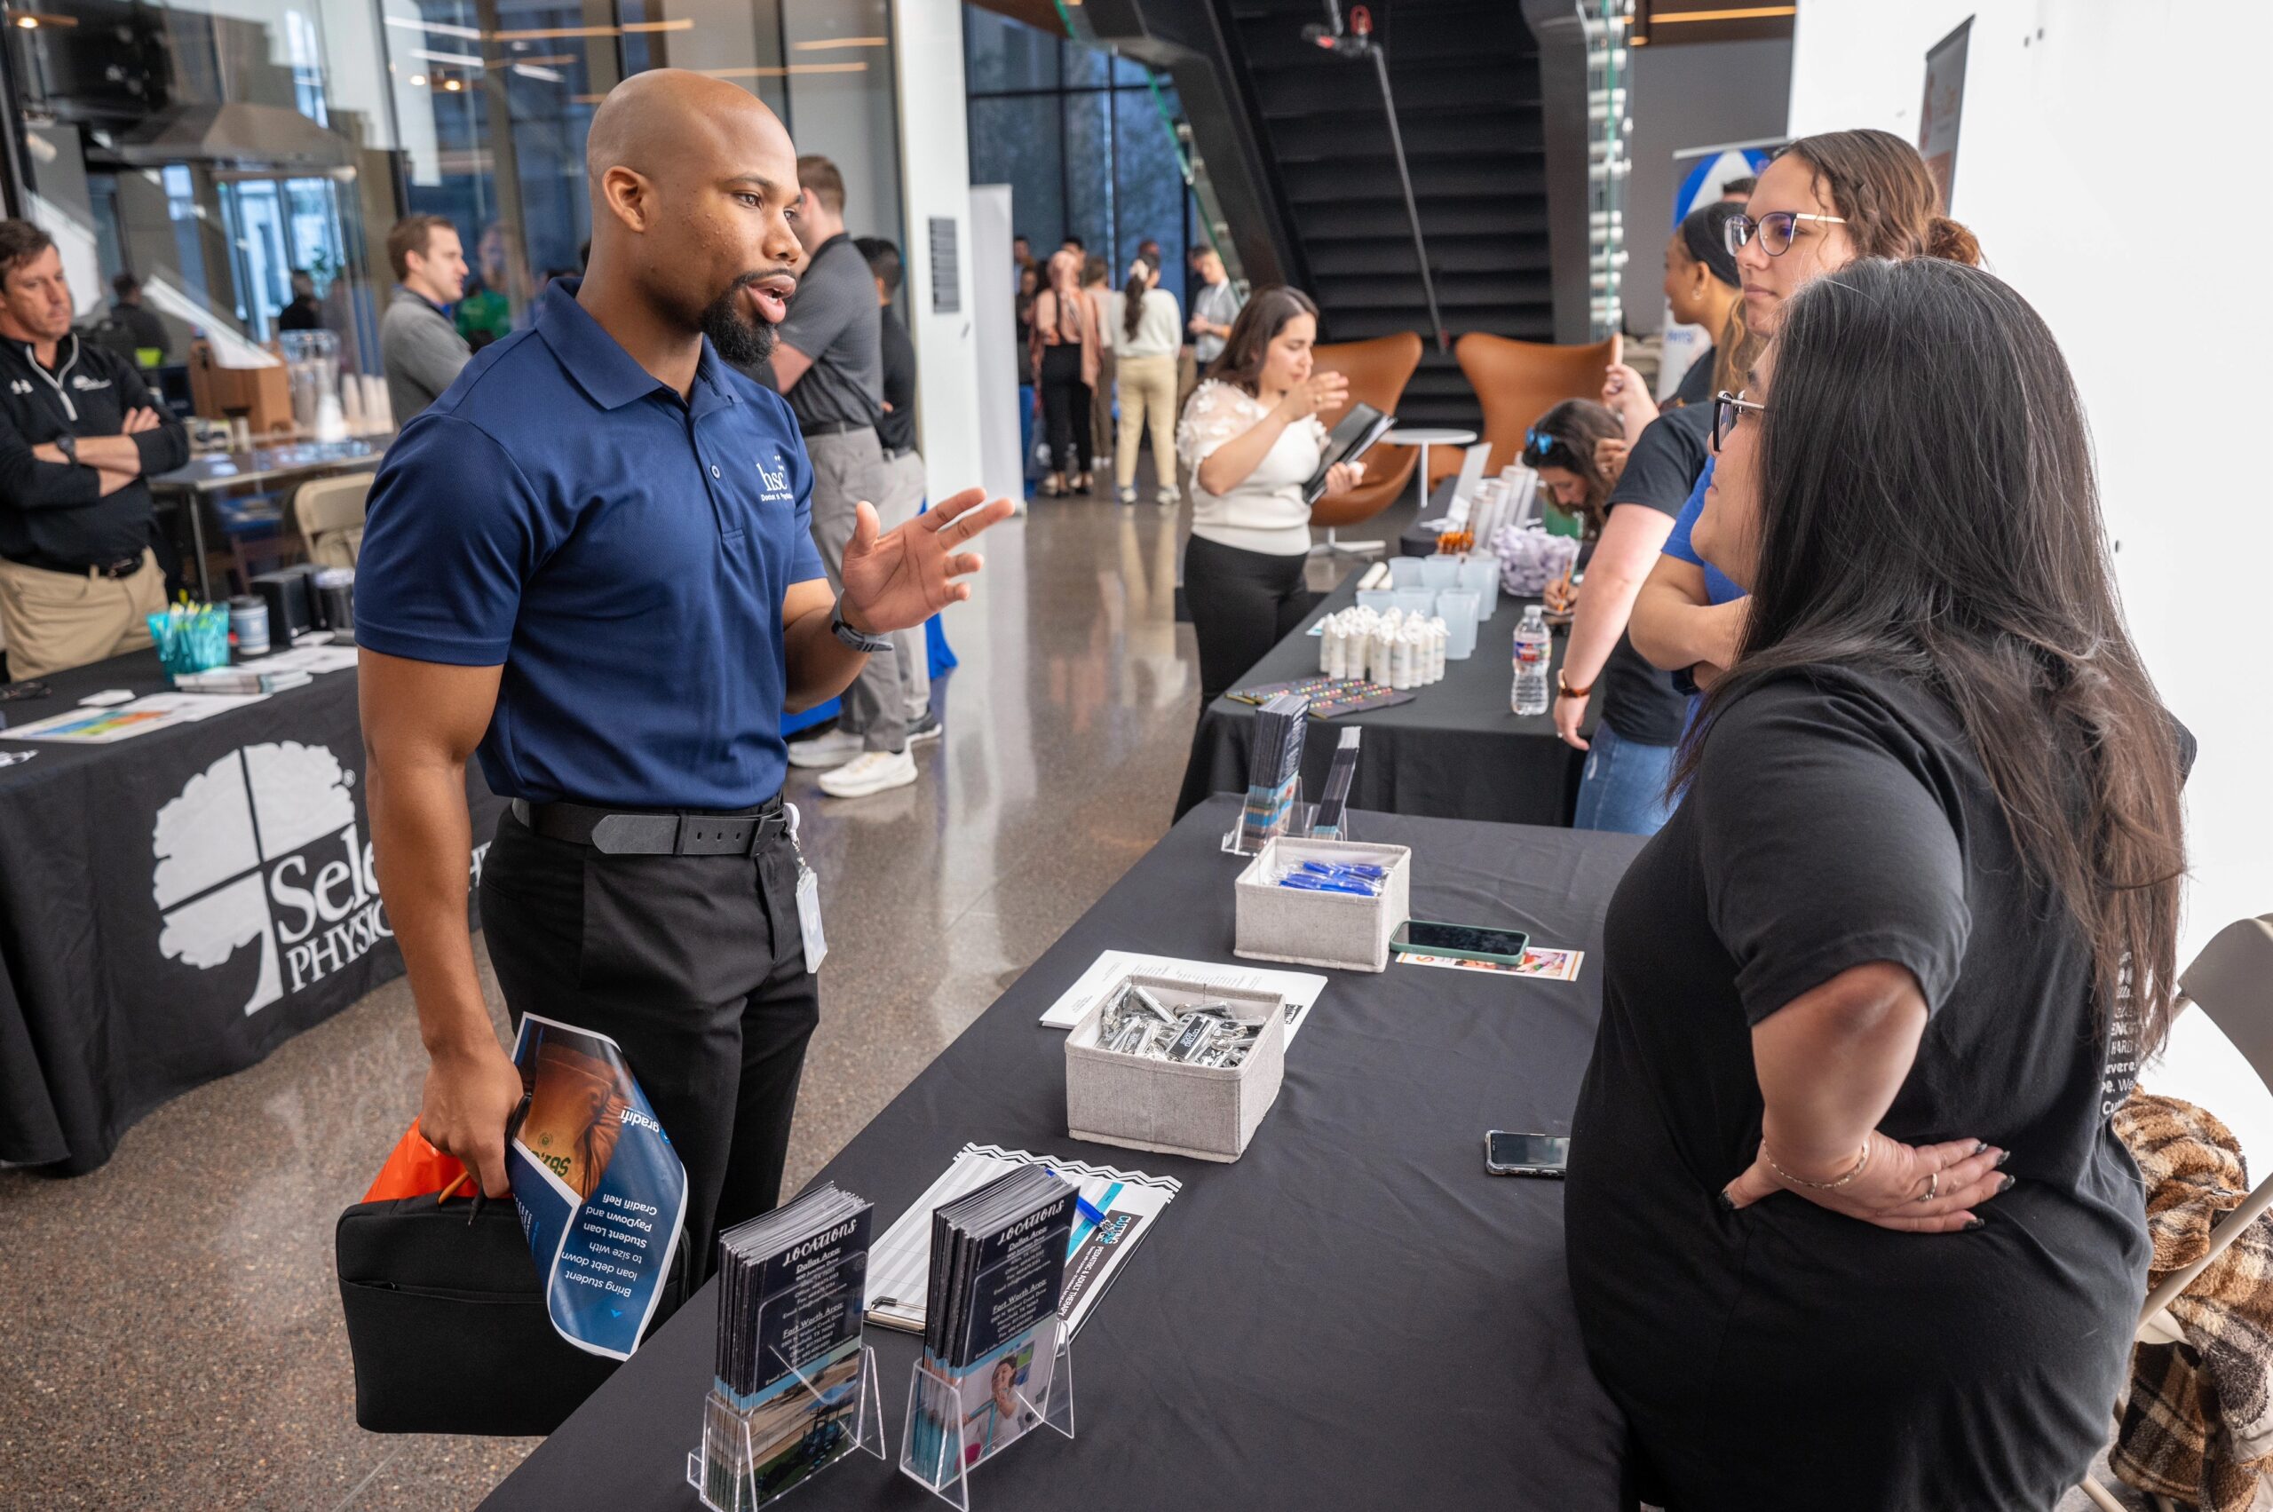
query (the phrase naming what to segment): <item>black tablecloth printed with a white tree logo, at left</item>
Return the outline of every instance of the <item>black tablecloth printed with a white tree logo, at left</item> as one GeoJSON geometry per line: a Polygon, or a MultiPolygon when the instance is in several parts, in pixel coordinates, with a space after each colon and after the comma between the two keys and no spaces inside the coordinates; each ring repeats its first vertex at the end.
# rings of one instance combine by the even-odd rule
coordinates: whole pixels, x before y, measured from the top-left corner
{"type": "MultiPolygon", "coordinates": [[[[164,689],[45,678],[11,725],[164,689]]],[[[402,973],[370,882],[355,671],[111,746],[0,739],[0,1164],[93,1171],[159,1103],[402,973]]],[[[468,775],[475,844],[502,807],[468,775]]]]}

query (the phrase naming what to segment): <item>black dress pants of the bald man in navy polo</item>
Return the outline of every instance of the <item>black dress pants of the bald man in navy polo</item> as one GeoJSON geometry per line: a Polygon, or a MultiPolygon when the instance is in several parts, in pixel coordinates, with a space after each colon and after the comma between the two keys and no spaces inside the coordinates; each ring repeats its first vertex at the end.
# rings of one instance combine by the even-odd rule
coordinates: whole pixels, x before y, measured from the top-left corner
{"type": "Polygon", "coordinates": [[[518,1028],[543,1014],[618,1046],[686,1166],[689,1289],[721,1228],[782,1196],[821,989],[786,837],[748,855],[602,855],[511,809],[482,862],[482,932],[518,1028]]]}

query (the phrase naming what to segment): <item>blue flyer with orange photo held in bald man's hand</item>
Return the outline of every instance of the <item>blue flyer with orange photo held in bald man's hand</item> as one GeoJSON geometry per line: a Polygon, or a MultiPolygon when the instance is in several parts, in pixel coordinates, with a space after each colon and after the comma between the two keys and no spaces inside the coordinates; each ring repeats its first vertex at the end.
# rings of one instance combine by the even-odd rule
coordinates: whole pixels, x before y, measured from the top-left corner
{"type": "Polygon", "coordinates": [[[505,1166],[552,1328],[630,1360],[680,1248],[686,1166],[607,1035],[523,1014],[514,1066],[530,1112],[505,1166]]]}

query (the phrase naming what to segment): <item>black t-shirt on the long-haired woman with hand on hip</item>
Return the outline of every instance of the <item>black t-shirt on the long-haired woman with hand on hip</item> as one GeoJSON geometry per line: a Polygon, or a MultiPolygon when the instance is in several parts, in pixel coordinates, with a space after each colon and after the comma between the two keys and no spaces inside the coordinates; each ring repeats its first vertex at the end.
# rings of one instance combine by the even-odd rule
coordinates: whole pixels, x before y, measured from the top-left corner
{"type": "Polygon", "coordinates": [[[1800,668],[1702,739],[1605,919],[1564,1201],[1596,1376],[1673,1505],[2048,1507],[2107,1435],[2148,1262],[2091,941],[1928,684],[1800,668]],[[1880,1128],[2012,1150],[1982,1230],[1718,1205],[1759,1148],[1752,1025],[1866,962],[1930,1012],[1880,1128]],[[1730,1453],[1762,1403],[1805,1455],[1730,1453]]]}

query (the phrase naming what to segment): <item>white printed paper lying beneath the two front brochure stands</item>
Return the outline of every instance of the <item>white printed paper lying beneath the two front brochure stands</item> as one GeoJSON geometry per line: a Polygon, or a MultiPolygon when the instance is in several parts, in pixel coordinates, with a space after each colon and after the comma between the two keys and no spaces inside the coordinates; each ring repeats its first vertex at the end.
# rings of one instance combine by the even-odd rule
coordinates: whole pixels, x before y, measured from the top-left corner
{"type": "Polygon", "coordinates": [[[1080,1332],[1089,1310],[1098,1305],[1114,1276],[1146,1230],[1168,1207],[1184,1182],[1171,1175],[1118,1171],[1082,1160],[1005,1150],[996,1144],[966,1144],[930,1191],[868,1246],[868,1321],[886,1328],[923,1332],[923,1307],[932,1280],[932,1210],[968,1196],[1018,1166],[1048,1166],[1080,1185],[1082,1203],[1105,1216],[1105,1228],[1075,1210],[1073,1237],[1066,1244],[1066,1296],[1059,1312],[1068,1332],[1080,1332]]]}

